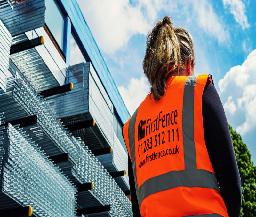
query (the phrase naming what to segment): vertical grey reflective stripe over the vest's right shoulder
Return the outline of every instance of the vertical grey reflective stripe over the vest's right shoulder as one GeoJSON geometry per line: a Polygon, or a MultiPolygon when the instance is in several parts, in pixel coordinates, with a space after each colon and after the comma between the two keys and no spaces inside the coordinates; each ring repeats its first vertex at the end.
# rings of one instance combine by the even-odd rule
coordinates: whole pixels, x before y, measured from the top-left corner
{"type": "Polygon", "coordinates": [[[194,141],[194,89],[197,76],[189,76],[184,86],[182,108],[182,133],[184,163],[186,169],[196,169],[196,147],[194,141]]]}

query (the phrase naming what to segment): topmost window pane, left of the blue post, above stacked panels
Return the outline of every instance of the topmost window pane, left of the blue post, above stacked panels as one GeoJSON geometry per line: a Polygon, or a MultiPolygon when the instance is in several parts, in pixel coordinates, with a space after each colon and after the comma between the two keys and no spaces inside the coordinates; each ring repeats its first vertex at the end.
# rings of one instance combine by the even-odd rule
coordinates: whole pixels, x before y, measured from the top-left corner
{"type": "Polygon", "coordinates": [[[63,50],[64,14],[56,0],[45,0],[45,23],[63,50]]]}

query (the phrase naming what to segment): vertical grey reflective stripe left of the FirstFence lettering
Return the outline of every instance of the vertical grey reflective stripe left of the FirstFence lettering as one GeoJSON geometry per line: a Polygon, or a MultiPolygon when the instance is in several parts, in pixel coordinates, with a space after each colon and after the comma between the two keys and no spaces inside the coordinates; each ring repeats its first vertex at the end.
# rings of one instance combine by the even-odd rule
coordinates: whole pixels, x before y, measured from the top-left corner
{"type": "MultiPolygon", "coordinates": [[[[136,171],[136,161],[135,161],[135,122],[136,122],[136,116],[138,112],[139,107],[136,109],[136,111],[133,113],[132,117],[130,118],[129,126],[128,126],[128,138],[129,138],[129,147],[130,147],[130,154],[131,154],[131,160],[132,160],[132,170],[133,170],[133,176],[135,181],[135,188],[136,188],[136,195],[137,198],[139,198],[138,193],[138,184],[137,184],[137,171],[136,171]]],[[[139,201],[139,200],[138,200],[139,201]]]]}

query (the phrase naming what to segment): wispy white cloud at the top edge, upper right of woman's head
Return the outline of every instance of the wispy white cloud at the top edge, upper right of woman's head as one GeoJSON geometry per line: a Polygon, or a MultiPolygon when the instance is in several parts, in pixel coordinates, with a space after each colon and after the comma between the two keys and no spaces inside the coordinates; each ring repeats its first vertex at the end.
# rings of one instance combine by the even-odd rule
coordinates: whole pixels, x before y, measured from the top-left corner
{"type": "MultiPolygon", "coordinates": [[[[229,33],[225,28],[220,17],[214,12],[212,5],[206,0],[195,0],[193,4],[193,15],[196,17],[197,24],[200,28],[215,38],[219,43],[229,38],[229,33]]],[[[190,20],[191,17],[188,17],[190,20]]]]}

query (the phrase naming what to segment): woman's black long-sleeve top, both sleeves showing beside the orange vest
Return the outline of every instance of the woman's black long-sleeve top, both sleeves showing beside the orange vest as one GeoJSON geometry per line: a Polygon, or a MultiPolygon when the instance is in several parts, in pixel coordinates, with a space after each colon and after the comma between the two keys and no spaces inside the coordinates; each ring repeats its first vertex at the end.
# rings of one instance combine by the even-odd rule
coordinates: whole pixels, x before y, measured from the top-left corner
{"type": "MultiPolygon", "coordinates": [[[[237,167],[227,118],[219,94],[210,81],[202,98],[204,139],[212,167],[217,176],[228,216],[239,217],[242,203],[241,178],[237,167]]],[[[128,156],[128,174],[133,216],[140,217],[132,163],[128,156]]]]}

